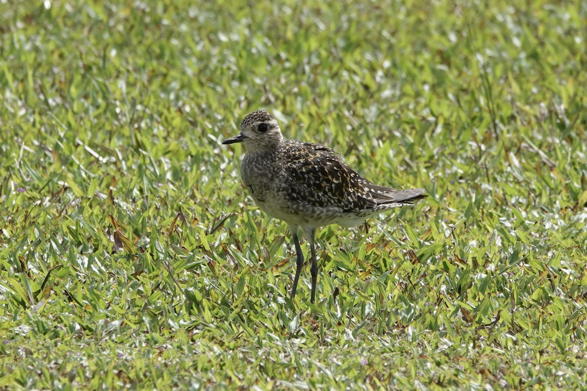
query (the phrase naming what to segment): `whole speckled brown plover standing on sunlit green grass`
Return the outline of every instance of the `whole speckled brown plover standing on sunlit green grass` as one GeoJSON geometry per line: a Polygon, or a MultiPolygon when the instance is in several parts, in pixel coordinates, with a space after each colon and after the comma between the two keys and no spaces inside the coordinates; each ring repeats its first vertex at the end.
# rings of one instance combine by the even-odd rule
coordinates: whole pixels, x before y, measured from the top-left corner
{"type": "Polygon", "coordinates": [[[242,120],[240,133],[222,144],[235,142],[241,142],[246,149],[241,177],[255,203],[269,216],[288,223],[296,250],[292,300],[303,265],[300,227],[310,244],[313,303],[318,280],[316,228],[360,225],[384,210],[427,197],[424,189],[396,190],[367,181],[329,147],[285,140],[278,121],[265,110],[248,114],[242,120]]]}

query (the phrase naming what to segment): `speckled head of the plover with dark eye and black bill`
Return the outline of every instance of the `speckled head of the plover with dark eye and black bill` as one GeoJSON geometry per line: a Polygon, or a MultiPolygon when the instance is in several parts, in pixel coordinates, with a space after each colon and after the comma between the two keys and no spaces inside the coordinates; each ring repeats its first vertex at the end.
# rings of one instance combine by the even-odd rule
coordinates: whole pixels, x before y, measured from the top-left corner
{"type": "Polygon", "coordinates": [[[235,137],[222,141],[222,144],[242,142],[247,151],[271,149],[284,140],[279,123],[265,110],[248,114],[241,122],[241,132],[235,137]]]}

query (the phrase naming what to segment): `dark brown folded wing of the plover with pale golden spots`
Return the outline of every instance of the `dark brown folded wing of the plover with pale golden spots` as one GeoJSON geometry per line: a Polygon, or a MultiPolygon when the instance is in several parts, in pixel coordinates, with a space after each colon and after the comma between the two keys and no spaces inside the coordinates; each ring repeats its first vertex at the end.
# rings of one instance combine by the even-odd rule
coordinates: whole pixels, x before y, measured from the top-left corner
{"type": "Polygon", "coordinates": [[[290,142],[286,155],[286,193],[292,202],[336,207],[343,212],[377,205],[363,186],[369,182],[344,164],[332,149],[310,142],[290,142]]]}

